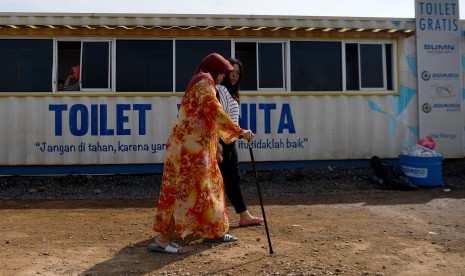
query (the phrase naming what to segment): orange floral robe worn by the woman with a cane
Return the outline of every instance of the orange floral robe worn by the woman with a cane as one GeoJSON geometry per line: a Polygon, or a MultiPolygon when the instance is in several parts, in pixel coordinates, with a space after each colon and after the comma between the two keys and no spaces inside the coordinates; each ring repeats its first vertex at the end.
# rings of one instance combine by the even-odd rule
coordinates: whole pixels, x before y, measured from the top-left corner
{"type": "Polygon", "coordinates": [[[242,133],[221,108],[213,81],[204,78],[186,92],[168,139],[154,230],[167,233],[174,217],[178,238],[217,238],[229,230],[218,135],[231,143],[242,133]]]}

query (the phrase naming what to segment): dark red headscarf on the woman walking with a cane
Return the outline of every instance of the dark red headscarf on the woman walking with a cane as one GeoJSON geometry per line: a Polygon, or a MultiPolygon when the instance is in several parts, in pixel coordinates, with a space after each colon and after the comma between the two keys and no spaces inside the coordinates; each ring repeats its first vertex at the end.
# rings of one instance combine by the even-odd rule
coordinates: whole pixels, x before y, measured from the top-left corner
{"type": "Polygon", "coordinates": [[[234,70],[234,67],[224,57],[217,53],[209,54],[200,62],[199,67],[195,70],[186,91],[189,91],[196,83],[205,77],[209,77],[215,82],[220,74],[226,74],[234,70]]]}

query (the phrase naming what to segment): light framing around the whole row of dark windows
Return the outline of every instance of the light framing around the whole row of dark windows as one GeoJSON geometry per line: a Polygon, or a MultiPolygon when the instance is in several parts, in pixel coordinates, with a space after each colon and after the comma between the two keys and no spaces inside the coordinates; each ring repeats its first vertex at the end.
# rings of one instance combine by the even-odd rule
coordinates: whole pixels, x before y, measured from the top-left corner
{"type": "MultiPolygon", "coordinates": [[[[9,39],[9,38],[5,38],[9,39]]],[[[18,37],[18,38],[11,38],[11,39],[33,39],[27,37],[18,37]]],[[[37,38],[37,39],[47,39],[47,38],[37,38]]],[[[158,38],[93,38],[93,37],[54,37],[50,38],[53,41],[53,61],[52,61],[52,91],[44,91],[44,93],[52,93],[52,94],[73,94],[73,93],[96,93],[96,94],[118,94],[122,93],[125,94],[126,92],[120,91],[117,92],[116,90],[116,67],[118,64],[116,63],[116,46],[118,40],[170,40],[172,41],[172,49],[173,49],[173,56],[172,56],[172,64],[173,64],[173,72],[172,72],[172,90],[166,91],[166,93],[178,93],[176,92],[176,72],[177,68],[176,65],[176,42],[180,40],[198,40],[195,38],[169,38],[169,37],[158,37],[158,38]],[[58,45],[59,42],[79,42],[81,44],[80,49],[80,60],[82,63],[82,46],[84,43],[88,42],[107,42],[109,47],[109,55],[108,55],[108,72],[109,72],[109,87],[103,89],[94,89],[94,88],[82,88],[81,91],[57,91],[57,81],[58,81],[58,45]]],[[[200,38],[199,38],[200,39],[200,38]]],[[[231,56],[233,58],[236,57],[236,44],[237,43],[253,43],[255,44],[255,58],[256,58],[256,82],[257,82],[257,89],[256,90],[241,90],[241,92],[252,94],[252,93],[259,93],[266,95],[267,92],[275,92],[275,93],[292,93],[292,94],[392,94],[397,93],[399,89],[398,77],[399,77],[399,57],[398,57],[398,45],[399,41],[395,38],[383,38],[383,39],[339,39],[339,38],[327,38],[327,39],[319,39],[319,38],[296,38],[296,39],[276,39],[276,38],[201,38],[201,40],[214,40],[214,41],[228,41],[230,45],[231,56]],[[321,42],[340,42],[341,47],[341,55],[342,55],[342,90],[338,91],[292,91],[291,90],[291,43],[293,41],[303,41],[303,42],[312,42],[312,41],[321,41],[321,42]],[[259,64],[259,45],[266,44],[266,43],[278,43],[281,45],[281,59],[282,59],[282,77],[283,77],[283,87],[277,88],[263,88],[260,86],[260,64],[259,64]],[[347,69],[346,69],[346,45],[347,44],[356,44],[357,45],[357,54],[358,54],[358,79],[359,79],[359,87],[357,90],[348,90],[347,89],[347,69]],[[362,67],[363,65],[360,64],[361,61],[361,54],[360,54],[360,47],[361,45],[382,45],[382,70],[383,70],[383,85],[382,87],[363,87],[361,79],[362,79],[362,67]],[[389,46],[387,46],[389,45],[389,46]],[[388,48],[389,47],[389,48],[388,48]],[[389,60],[387,59],[389,58],[389,60]],[[388,72],[388,70],[390,70],[388,72]]],[[[252,47],[252,46],[251,46],[252,47]]],[[[82,70],[82,69],[81,69],[82,70]]],[[[28,93],[33,91],[22,91],[18,93],[28,93]]],[[[2,92],[8,93],[8,92],[2,92]]],[[[35,93],[35,92],[34,92],[35,93]]],[[[153,94],[157,95],[160,93],[165,92],[131,92],[134,94],[153,94]]]]}

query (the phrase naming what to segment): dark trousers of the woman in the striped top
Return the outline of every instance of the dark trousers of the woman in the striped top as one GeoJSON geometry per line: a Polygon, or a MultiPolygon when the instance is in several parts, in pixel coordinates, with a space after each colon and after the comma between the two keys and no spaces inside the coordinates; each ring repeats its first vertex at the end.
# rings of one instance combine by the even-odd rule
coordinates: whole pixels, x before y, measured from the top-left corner
{"type": "Polygon", "coordinates": [[[226,145],[220,140],[220,144],[223,146],[223,162],[218,165],[223,176],[224,189],[236,213],[239,214],[246,211],[247,207],[245,207],[244,197],[239,185],[239,159],[235,146],[236,142],[226,145]]]}

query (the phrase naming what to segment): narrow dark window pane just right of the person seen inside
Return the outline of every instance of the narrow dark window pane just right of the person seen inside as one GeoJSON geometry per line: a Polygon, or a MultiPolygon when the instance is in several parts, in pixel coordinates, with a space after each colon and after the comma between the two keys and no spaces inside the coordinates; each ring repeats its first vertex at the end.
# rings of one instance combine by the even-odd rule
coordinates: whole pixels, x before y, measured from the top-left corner
{"type": "Polygon", "coordinates": [[[109,42],[84,42],[82,46],[82,88],[109,88],[109,42]]]}

